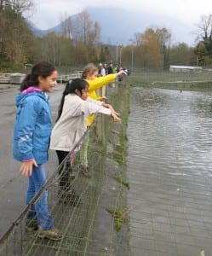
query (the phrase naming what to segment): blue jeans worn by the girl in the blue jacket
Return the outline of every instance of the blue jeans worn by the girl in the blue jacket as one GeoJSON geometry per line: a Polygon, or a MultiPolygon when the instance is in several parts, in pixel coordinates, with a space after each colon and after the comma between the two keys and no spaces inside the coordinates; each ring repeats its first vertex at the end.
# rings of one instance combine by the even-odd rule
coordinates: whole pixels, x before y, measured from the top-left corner
{"type": "MultiPolygon", "coordinates": [[[[26,204],[32,200],[32,198],[40,191],[46,183],[46,173],[43,165],[34,166],[32,170],[32,176],[29,177],[28,188],[26,192],[26,204]]],[[[32,205],[30,211],[27,213],[26,218],[37,218],[39,225],[43,230],[53,229],[53,219],[48,210],[48,191],[43,191],[43,194],[32,205]]]]}

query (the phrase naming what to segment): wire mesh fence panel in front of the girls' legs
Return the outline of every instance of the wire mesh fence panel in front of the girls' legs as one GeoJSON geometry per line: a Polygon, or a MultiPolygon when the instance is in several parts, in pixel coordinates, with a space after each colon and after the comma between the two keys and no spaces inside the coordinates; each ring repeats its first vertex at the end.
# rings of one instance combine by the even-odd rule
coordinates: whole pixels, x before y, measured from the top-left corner
{"type": "MultiPolygon", "coordinates": [[[[81,143],[81,140],[77,143],[76,148],[81,143]]],[[[72,151],[70,154],[72,154],[72,151]]],[[[2,236],[0,240],[0,255],[59,255],[59,253],[60,255],[70,255],[70,252],[72,252],[72,255],[77,255],[77,253],[83,252],[83,248],[87,243],[86,234],[89,230],[89,223],[95,213],[91,208],[95,207],[95,201],[100,195],[100,172],[96,172],[94,177],[90,179],[83,177],[77,156],[73,166],[75,179],[72,181],[72,186],[76,188],[79,200],[76,201],[75,205],[60,202],[60,195],[58,194],[60,177],[58,171],[59,168],[63,168],[70,161],[70,154],[67,155],[43,189],[33,198],[31,203],[20,213],[20,216],[14,220],[9,230],[2,236]],[[25,230],[26,213],[29,211],[30,206],[40,199],[46,189],[48,189],[49,193],[49,211],[53,214],[54,224],[63,233],[61,241],[43,240],[37,237],[37,232],[25,230]]],[[[100,158],[101,152],[98,151],[98,148],[93,151],[93,154],[89,154],[90,162],[93,163],[91,166],[93,170],[100,164],[100,158]]]]}

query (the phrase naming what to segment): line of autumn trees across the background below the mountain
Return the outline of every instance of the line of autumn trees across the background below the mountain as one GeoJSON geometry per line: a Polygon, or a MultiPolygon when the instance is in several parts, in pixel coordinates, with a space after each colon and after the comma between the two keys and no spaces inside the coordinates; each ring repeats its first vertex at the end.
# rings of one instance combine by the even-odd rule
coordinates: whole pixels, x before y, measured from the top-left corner
{"type": "Polygon", "coordinates": [[[169,65],[212,65],[212,15],[202,16],[195,47],[171,44],[165,27],[135,32],[128,45],[106,45],[100,40],[100,25],[86,11],[60,17],[61,32],[36,37],[24,17],[33,9],[32,0],[0,0],[0,71],[23,68],[45,60],[56,67],[80,67],[88,62],[117,62],[123,67],[167,69],[169,65]]]}

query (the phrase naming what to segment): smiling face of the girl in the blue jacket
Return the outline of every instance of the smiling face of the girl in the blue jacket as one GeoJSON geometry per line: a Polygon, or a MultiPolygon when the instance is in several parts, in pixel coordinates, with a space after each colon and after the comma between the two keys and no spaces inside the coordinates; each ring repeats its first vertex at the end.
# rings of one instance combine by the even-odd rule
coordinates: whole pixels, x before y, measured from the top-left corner
{"type": "Polygon", "coordinates": [[[47,78],[43,78],[42,76],[38,77],[38,88],[45,92],[52,92],[54,90],[54,86],[57,84],[58,72],[54,70],[53,73],[49,75],[47,78]]]}

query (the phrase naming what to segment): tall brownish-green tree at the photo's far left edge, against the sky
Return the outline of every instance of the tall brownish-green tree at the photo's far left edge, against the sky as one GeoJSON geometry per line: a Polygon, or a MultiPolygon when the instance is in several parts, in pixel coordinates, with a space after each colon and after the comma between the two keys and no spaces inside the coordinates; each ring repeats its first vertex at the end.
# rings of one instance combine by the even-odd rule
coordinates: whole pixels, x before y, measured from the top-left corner
{"type": "Polygon", "coordinates": [[[23,12],[33,6],[30,0],[0,1],[0,39],[2,61],[24,64],[32,55],[33,36],[23,12]]]}

